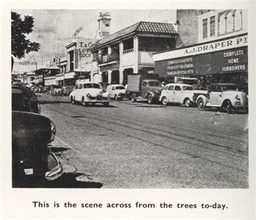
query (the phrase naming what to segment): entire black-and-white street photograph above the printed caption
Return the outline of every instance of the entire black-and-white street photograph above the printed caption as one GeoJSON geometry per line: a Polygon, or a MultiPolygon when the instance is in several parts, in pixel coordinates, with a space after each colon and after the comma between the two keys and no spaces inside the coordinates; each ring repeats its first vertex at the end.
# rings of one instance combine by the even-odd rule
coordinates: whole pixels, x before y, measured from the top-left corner
{"type": "Polygon", "coordinates": [[[248,188],[247,10],[12,10],[13,188],[248,188]]]}

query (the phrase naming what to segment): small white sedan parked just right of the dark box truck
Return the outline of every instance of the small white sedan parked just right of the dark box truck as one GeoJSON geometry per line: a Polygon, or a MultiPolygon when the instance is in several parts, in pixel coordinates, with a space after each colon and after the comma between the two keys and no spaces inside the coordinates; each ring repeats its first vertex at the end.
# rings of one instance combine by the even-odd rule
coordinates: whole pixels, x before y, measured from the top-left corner
{"type": "Polygon", "coordinates": [[[163,105],[167,105],[167,103],[180,103],[185,104],[186,107],[190,107],[194,102],[193,87],[181,83],[166,84],[164,90],[161,92],[159,101],[163,105]]]}

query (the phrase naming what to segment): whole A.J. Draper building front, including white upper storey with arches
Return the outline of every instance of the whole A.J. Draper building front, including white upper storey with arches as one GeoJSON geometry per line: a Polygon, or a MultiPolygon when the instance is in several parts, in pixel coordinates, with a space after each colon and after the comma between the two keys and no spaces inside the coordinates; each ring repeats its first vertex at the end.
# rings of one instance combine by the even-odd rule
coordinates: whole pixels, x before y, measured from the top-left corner
{"type": "Polygon", "coordinates": [[[154,54],[156,73],[169,82],[196,77],[204,88],[213,82],[236,83],[248,93],[247,11],[215,10],[198,16],[198,41],[154,54]]]}

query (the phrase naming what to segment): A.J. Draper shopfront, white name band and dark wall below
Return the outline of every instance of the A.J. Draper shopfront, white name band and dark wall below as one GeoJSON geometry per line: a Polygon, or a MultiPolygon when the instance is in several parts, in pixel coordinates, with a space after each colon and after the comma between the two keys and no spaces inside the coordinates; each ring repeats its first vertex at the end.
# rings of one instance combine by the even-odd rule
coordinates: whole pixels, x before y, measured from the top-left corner
{"type": "Polygon", "coordinates": [[[203,87],[214,82],[238,84],[248,93],[247,34],[154,55],[156,74],[173,82],[195,77],[203,87]]]}

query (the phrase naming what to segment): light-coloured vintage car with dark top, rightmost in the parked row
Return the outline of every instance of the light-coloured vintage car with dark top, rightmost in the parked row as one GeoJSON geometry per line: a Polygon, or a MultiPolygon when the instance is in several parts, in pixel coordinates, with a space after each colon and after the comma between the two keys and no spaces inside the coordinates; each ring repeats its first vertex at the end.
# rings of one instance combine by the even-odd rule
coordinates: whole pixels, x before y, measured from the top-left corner
{"type": "Polygon", "coordinates": [[[231,113],[233,110],[248,111],[248,97],[246,93],[238,91],[237,84],[213,83],[207,95],[197,97],[197,107],[200,111],[205,108],[217,108],[231,113]]]}

